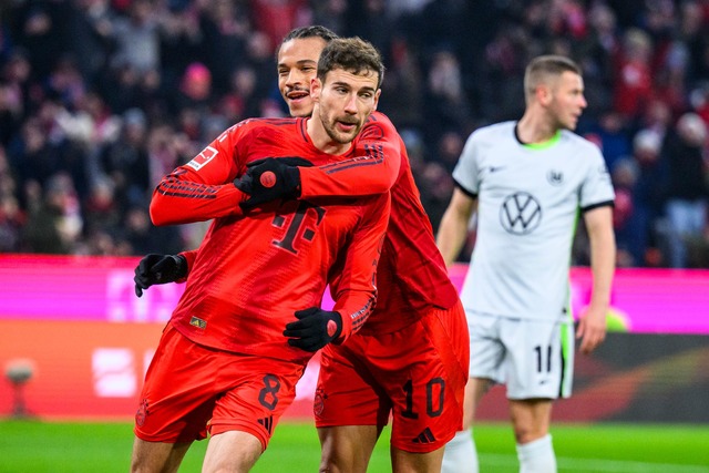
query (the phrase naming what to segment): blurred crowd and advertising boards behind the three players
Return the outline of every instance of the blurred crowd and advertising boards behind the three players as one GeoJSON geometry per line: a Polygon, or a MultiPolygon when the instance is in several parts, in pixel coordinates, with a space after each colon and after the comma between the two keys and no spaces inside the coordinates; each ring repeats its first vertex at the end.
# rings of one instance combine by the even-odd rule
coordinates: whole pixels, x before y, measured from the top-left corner
{"type": "MultiPolygon", "coordinates": [[[[434,230],[467,135],[522,116],[526,63],[582,65],[577,133],[613,175],[619,269],[613,332],[577,359],[555,419],[706,428],[709,0],[0,0],[0,415],[132,419],[183,289],[138,299],[133,268],[206,230],[154,227],[153,188],[232,124],[287,114],[275,52],[307,24],[383,54],[379,109],[434,230]]],[[[451,271],[459,287],[474,237],[451,271]]],[[[583,228],[572,263],[580,313],[583,228]]],[[[290,415],[310,418],[317,369],[316,357],[290,415]]],[[[481,420],[506,415],[504,391],[485,398],[481,420]]]]}

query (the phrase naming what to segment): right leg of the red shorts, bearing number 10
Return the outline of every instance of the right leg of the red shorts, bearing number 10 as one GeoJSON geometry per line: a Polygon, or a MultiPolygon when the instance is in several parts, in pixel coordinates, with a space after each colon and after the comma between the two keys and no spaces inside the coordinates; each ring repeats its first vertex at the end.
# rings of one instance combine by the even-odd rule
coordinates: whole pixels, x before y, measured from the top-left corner
{"type": "Polygon", "coordinates": [[[367,354],[394,405],[392,448],[434,452],[462,429],[470,359],[462,307],[431,309],[405,329],[377,337],[367,354]]]}

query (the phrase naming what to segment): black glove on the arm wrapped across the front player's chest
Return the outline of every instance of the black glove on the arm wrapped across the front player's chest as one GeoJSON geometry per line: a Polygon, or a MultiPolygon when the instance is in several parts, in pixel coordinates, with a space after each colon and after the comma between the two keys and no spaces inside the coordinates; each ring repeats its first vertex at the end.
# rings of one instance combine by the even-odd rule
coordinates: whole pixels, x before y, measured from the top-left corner
{"type": "Polygon", "coordinates": [[[312,166],[302,157],[266,157],[247,164],[248,171],[234,182],[250,197],[239,205],[244,210],[278,198],[290,199],[300,196],[300,169],[297,166],[312,166]]]}

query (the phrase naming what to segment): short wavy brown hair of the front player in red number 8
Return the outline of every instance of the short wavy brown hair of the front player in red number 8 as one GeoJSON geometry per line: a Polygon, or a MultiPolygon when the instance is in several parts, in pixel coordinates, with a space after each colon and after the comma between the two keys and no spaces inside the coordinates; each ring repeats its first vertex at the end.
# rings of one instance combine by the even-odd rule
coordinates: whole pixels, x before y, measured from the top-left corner
{"type": "Polygon", "coordinates": [[[342,69],[353,74],[372,72],[378,75],[377,89],[384,80],[384,63],[377,48],[359,37],[331,40],[320,53],[318,79],[325,82],[328,72],[342,69]]]}

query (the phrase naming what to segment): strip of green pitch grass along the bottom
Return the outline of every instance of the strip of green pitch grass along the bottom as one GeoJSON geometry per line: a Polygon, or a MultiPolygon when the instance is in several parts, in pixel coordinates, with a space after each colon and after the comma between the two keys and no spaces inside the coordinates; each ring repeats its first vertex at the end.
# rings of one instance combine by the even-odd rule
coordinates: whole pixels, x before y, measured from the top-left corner
{"type": "MultiPolygon", "coordinates": [[[[389,429],[369,471],[390,472],[389,429]]],[[[709,473],[709,426],[566,424],[552,429],[563,473],[709,473]]],[[[516,473],[506,424],[475,428],[482,473],[516,473]]],[[[130,423],[0,420],[0,473],[125,473],[133,443],[130,423]]],[[[206,442],[187,453],[181,472],[199,472],[206,442]]],[[[319,444],[308,423],[281,423],[254,472],[317,472],[319,444]]]]}

